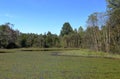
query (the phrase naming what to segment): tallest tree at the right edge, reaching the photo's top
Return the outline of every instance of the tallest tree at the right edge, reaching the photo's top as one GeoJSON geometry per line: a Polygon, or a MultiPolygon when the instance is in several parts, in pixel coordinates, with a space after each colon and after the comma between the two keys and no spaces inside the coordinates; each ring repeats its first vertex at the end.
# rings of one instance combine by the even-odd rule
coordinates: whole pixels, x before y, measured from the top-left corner
{"type": "Polygon", "coordinates": [[[120,52],[120,0],[107,0],[110,31],[110,50],[120,52]]]}

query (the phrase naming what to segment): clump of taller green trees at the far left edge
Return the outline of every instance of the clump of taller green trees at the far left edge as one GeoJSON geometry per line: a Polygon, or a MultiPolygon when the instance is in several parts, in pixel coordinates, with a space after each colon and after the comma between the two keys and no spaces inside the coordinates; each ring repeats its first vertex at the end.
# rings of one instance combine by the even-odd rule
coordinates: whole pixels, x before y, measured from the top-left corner
{"type": "Polygon", "coordinates": [[[18,34],[11,26],[10,23],[0,25],[0,48],[6,48],[9,43],[16,43],[18,34]]]}

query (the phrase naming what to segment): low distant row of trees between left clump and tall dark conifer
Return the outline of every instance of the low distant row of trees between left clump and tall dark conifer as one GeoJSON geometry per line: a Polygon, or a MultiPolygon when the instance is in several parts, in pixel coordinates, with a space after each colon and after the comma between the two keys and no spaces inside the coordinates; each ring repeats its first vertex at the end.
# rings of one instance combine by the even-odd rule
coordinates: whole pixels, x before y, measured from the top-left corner
{"type": "Polygon", "coordinates": [[[19,44],[21,47],[39,47],[39,48],[51,48],[59,47],[60,40],[56,34],[48,32],[47,34],[23,34],[19,35],[19,44]]]}

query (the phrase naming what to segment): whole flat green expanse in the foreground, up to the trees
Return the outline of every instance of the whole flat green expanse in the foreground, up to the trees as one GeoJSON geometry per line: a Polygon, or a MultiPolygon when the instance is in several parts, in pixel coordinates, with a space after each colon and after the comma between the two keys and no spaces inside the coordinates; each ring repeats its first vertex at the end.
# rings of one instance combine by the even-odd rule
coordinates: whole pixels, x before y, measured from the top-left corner
{"type": "Polygon", "coordinates": [[[12,51],[0,53],[0,79],[120,79],[120,59],[101,52],[12,51]]]}

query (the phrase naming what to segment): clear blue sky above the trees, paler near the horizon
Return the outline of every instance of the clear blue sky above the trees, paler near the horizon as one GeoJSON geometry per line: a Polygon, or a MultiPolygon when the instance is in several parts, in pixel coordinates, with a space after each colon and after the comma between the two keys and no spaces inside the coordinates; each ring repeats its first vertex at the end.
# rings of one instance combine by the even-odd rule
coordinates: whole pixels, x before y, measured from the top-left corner
{"type": "Polygon", "coordinates": [[[85,29],[90,14],[105,11],[105,0],[0,0],[0,25],[10,22],[23,33],[59,34],[65,22],[85,29]]]}

